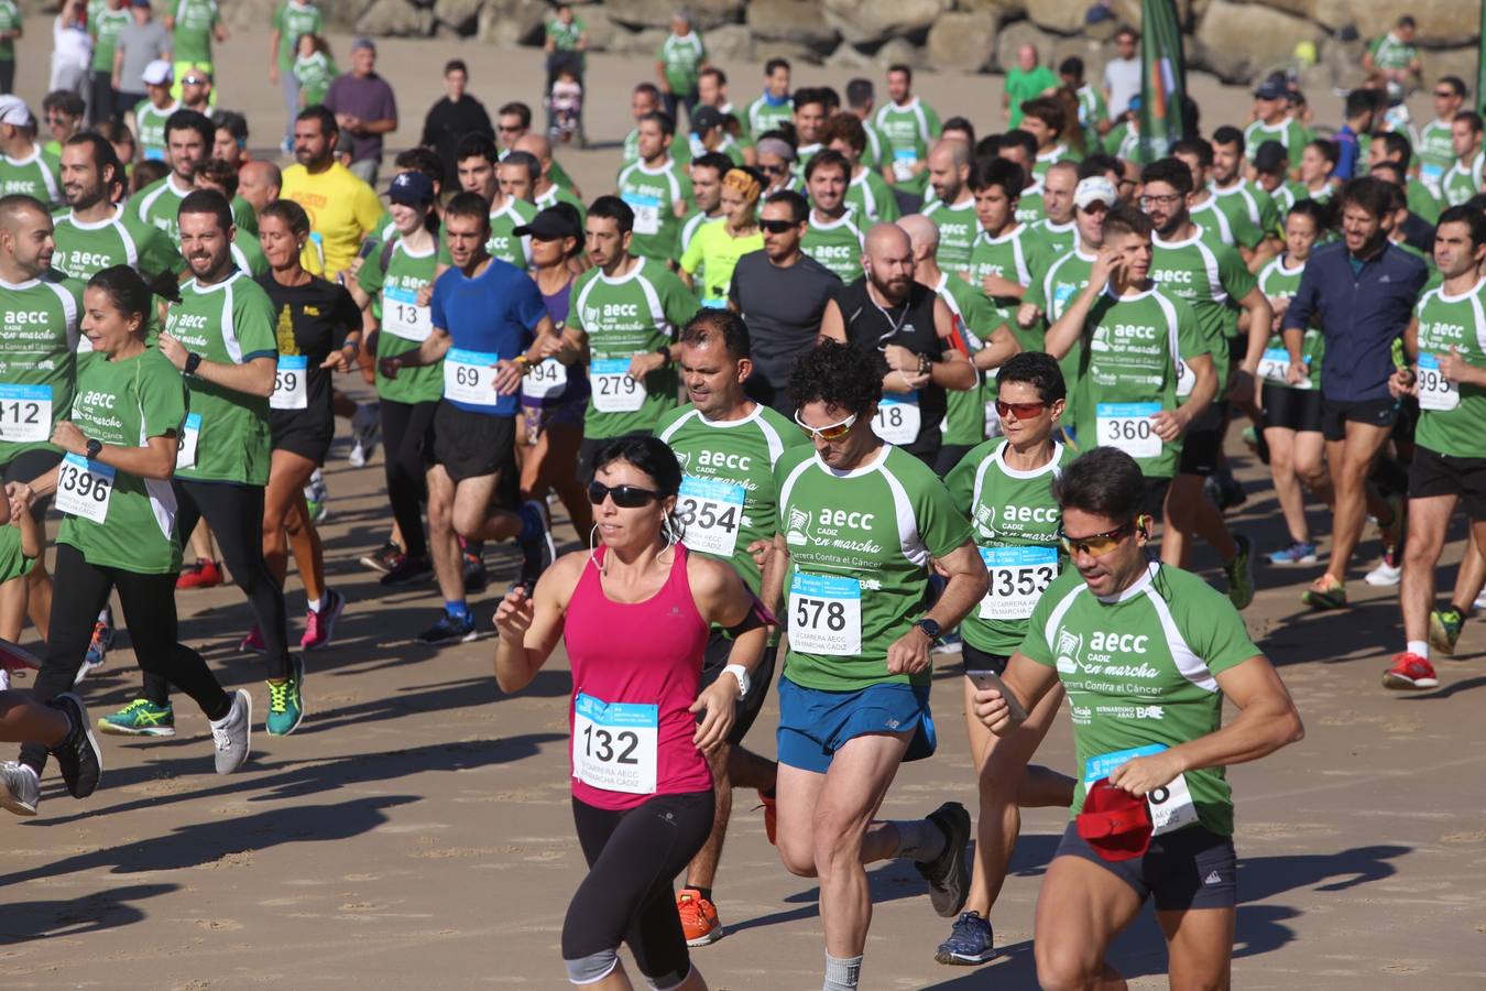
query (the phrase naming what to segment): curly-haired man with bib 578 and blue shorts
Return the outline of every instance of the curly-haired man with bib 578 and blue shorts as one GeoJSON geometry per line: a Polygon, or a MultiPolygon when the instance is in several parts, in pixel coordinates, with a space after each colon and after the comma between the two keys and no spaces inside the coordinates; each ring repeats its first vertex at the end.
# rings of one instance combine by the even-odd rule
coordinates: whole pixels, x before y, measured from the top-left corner
{"type": "Polygon", "coordinates": [[[791,449],[774,468],[774,579],[764,602],[789,588],[777,842],[791,874],[820,883],[825,991],[860,981],[872,915],[863,865],[912,860],[942,917],[966,897],[963,805],[874,819],[898,765],[936,746],[929,651],[987,590],[969,523],[944,484],[872,429],[884,371],[877,354],[834,342],[802,357],[789,386],[813,449],[791,449]],[[947,581],[924,612],[935,572],[947,581]]]}

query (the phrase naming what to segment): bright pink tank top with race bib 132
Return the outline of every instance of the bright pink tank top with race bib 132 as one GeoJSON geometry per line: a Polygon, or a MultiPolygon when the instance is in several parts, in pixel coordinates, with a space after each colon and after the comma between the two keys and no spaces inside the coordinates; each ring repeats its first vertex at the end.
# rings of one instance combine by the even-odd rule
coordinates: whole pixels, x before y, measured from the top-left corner
{"type": "MultiPolygon", "coordinates": [[[[597,550],[600,565],[605,553],[597,550]]],[[[645,602],[611,600],[599,569],[584,565],[565,630],[574,798],[626,810],[652,795],[712,787],[691,741],[697,719],[687,712],[701,683],[707,633],[691,599],[685,547],[676,545],[666,584],[645,602]]]]}

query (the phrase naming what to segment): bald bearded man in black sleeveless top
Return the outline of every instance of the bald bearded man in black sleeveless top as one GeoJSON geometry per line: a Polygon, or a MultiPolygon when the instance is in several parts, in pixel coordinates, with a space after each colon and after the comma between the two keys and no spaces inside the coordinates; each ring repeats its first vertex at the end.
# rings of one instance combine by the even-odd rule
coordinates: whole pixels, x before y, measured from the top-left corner
{"type": "Polygon", "coordinates": [[[898,224],[866,232],[863,275],[841,291],[847,342],[887,361],[883,401],[872,429],[935,467],[942,446],[945,389],[972,389],[978,379],[954,313],[914,279],[914,247],[898,224]]]}

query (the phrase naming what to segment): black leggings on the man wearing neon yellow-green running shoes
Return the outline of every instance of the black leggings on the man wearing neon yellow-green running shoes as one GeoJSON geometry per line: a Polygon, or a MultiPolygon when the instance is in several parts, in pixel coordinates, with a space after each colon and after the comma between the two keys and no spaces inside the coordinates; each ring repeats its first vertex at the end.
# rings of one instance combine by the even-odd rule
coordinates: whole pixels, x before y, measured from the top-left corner
{"type": "MultiPolygon", "coordinates": [[[[259,631],[267,646],[269,678],[290,676],[288,618],[284,614],[284,588],[263,560],[263,487],[221,481],[172,483],[175,502],[175,535],[181,545],[190,542],[192,530],[202,517],[221,548],[232,579],[248,597],[259,631]]],[[[174,594],[174,593],[172,593],[174,594]]],[[[144,697],[156,706],[169,701],[169,686],[163,678],[144,672],[144,697]]]]}

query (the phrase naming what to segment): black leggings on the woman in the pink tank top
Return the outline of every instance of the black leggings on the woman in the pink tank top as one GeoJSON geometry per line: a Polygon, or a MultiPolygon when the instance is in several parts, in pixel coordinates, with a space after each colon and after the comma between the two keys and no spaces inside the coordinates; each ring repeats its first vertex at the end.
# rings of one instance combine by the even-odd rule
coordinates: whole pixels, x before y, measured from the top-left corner
{"type": "Polygon", "coordinates": [[[707,841],[712,802],[710,790],[657,795],[627,811],[572,799],[588,877],[568,903],[563,960],[618,949],[623,940],[651,981],[672,987],[687,979],[691,955],[672,883],[707,841]]]}

